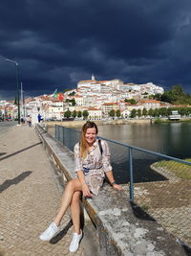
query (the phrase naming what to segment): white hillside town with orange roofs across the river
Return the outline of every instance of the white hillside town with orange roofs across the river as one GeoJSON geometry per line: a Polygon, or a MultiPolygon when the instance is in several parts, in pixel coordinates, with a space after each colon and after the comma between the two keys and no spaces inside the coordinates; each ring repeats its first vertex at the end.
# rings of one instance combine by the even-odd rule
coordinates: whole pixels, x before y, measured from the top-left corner
{"type": "MultiPolygon", "coordinates": [[[[20,101],[20,118],[31,116],[32,123],[37,122],[37,116],[45,121],[60,121],[70,117],[82,119],[84,116],[88,116],[89,120],[102,120],[110,118],[111,111],[118,113],[120,118],[129,118],[133,109],[148,111],[171,106],[152,99],[152,96],[163,92],[162,87],[152,82],[135,84],[124,83],[119,79],[96,81],[93,75],[91,80],[78,81],[76,88],[63,93],[55,90],[51,95],[44,94],[20,101]],[[131,100],[135,103],[130,103],[131,100]]],[[[0,119],[17,118],[15,101],[0,101],[0,119]]]]}

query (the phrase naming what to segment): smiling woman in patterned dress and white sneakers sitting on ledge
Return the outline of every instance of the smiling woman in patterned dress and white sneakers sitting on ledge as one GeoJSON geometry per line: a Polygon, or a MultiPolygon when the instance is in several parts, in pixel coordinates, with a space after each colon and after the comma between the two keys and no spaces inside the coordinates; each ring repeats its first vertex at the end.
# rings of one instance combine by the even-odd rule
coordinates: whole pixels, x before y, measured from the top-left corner
{"type": "Polygon", "coordinates": [[[75,172],[77,178],[68,182],[61,200],[60,209],[53,222],[40,235],[43,241],[50,241],[61,231],[60,222],[67,208],[71,207],[72,220],[74,224],[74,237],[69,250],[75,252],[82,238],[80,230],[80,198],[98,195],[103,185],[105,175],[108,177],[114,189],[122,190],[117,185],[110,164],[110,151],[104,140],[96,138],[98,129],[94,122],[87,122],[82,127],[80,142],[74,146],[75,172]]]}

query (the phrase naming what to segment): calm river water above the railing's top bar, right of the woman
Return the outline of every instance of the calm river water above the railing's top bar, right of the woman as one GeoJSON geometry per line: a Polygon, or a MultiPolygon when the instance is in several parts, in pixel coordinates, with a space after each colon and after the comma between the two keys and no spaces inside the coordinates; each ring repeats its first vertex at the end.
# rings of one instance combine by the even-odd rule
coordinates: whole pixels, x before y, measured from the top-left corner
{"type": "Polygon", "coordinates": [[[99,135],[178,158],[191,157],[191,124],[99,126],[99,135]]]}

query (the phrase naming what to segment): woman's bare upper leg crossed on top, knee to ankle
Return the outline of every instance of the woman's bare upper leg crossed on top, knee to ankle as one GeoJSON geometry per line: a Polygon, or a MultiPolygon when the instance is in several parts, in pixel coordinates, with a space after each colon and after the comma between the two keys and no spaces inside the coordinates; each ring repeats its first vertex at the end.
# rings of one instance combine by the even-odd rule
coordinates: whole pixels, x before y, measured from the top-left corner
{"type": "Polygon", "coordinates": [[[81,183],[77,178],[72,179],[71,181],[68,182],[66,189],[64,191],[64,194],[62,196],[61,199],[61,206],[59,208],[59,211],[55,217],[55,219],[53,220],[53,222],[56,225],[59,225],[63,216],[65,215],[69,205],[72,202],[73,196],[74,196],[74,192],[76,191],[82,191],[81,188],[81,183]]]}

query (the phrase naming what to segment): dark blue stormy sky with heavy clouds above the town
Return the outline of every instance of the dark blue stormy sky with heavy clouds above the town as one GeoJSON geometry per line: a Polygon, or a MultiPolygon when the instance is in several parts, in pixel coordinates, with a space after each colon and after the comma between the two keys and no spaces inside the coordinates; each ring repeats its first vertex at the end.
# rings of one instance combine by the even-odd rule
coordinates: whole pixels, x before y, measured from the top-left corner
{"type": "MultiPolygon", "coordinates": [[[[1,0],[0,56],[19,64],[26,97],[121,79],[191,93],[190,0],[1,0]]],[[[16,65],[0,58],[0,100],[16,65]]]]}

